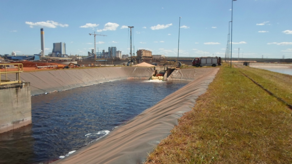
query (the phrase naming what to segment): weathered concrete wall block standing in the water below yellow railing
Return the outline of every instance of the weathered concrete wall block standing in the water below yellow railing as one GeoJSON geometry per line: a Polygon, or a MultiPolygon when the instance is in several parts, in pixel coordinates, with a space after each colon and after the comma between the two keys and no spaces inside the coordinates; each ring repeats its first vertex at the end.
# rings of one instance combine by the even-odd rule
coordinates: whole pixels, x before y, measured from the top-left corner
{"type": "Polygon", "coordinates": [[[31,124],[30,83],[0,86],[0,133],[31,124]]]}

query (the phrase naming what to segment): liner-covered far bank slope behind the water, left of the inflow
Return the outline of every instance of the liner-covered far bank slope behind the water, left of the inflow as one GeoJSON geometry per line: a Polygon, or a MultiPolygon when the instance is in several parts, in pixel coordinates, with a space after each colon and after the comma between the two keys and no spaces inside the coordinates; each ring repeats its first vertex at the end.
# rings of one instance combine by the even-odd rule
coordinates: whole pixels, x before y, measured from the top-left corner
{"type": "MultiPolygon", "coordinates": [[[[31,95],[64,91],[77,87],[124,79],[148,79],[154,68],[146,67],[104,67],[91,69],[48,70],[20,73],[21,81],[30,82],[31,95]]],[[[15,80],[15,73],[7,74],[15,80]]],[[[5,75],[1,75],[5,79],[5,75]]]]}

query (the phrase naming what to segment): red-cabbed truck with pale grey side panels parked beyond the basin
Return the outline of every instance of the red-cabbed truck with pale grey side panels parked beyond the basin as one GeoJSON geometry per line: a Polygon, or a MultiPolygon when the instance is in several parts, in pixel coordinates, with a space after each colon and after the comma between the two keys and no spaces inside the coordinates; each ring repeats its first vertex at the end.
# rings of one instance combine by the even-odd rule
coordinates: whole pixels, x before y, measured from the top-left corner
{"type": "Polygon", "coordinates": [[[203,66],[220,66],[221,57],[196,57],[192,62],[194,67],[203,67],[203,66]]]}

